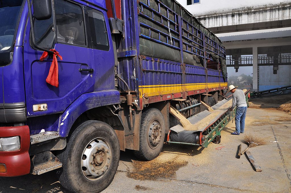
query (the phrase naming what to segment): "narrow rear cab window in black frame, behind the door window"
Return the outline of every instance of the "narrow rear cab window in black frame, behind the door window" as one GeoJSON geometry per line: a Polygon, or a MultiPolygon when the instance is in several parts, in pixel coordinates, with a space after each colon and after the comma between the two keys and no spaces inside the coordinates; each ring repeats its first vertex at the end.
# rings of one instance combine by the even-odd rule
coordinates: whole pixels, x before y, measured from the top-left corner
{"type": "Polygon", "coordinates": [[[104,15],[100,11],[91,8],[87,9],[92,38],[92,48],[108,51],[109,43],[104,15]]]}

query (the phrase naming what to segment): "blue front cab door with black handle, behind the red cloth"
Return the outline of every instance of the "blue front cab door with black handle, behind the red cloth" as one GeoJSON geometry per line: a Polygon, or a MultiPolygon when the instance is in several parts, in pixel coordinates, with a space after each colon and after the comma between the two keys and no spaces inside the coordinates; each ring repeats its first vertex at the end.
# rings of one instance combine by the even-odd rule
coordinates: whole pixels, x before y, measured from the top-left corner
{"type": "Polygon", "coordinates": [[[88,48],[84,12],[86,8],[64,1],[53,1],[54,14],[47,20],[35,20],[36,43],[54,48],[63,57],[58,60],[59,86],[46,83],[52,58],[39,61],[42,51],[30,45],[30,24],[27,24],[24,44],[24,76],[27,116],[63,112],[75,99],[86,92],[93,92],[93,51],[88,48]],[[88,69],[80,71],[79,69],[88,69]],[[35,104],[47,104],[47,110],[33,112],[35,104]]]}

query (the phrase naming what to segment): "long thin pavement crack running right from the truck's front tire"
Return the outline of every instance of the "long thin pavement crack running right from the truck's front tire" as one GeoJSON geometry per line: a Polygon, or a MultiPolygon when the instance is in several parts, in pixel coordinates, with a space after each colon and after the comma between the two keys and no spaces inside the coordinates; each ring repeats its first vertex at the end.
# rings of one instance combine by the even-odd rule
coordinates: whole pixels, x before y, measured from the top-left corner
{"type": "Polygon", "coordinates": [[[241,191],[241,192],[258,192],[258,193],[262,193],[262,192],[254,191],[254,190],[244,190],[244,189],[239,189],[239,188],[234,188],[234,187],[214,185],[214,184],[207,184],[207,183],[202,183],[202,182],[197,182],[197,181],[179,180],[179,179],[175,179],[175,178],[167,178],[167,177],[164,177],[164,176],[155,176],[155,175],[142,174],[142,173],[137,173],[137,172],[122,171],[122,170],[117,170],[117,172],[125,172],[125,173],[131,173],[131,174],[139,174],[139,175],[143,175],[143,176],[150,176],[150,177],[155,177],[155,178],[164,178],[164,179],[174,180],[174,181],[180,181],[180,182],[196,183],[196,184],[202,184],[202,185],[207,185],[207,186],[211,186],[211,187],[228,188],[228,189],[237,190],[237,191],[241,191]]]}

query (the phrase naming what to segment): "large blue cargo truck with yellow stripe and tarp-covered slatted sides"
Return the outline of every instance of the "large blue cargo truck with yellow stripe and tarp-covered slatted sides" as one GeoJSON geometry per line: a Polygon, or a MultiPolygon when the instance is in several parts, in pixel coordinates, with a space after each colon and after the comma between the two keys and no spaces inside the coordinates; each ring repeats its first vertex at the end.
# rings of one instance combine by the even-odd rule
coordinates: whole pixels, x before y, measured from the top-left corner
{"type": "Polygon", "coordinates": [[[57,169],[100,192],[120,150],[159,155],[171,106],[189,118],[224,97],[222,42],[175,0],[1,0],[0,18],[0,176],[57,169]]]}

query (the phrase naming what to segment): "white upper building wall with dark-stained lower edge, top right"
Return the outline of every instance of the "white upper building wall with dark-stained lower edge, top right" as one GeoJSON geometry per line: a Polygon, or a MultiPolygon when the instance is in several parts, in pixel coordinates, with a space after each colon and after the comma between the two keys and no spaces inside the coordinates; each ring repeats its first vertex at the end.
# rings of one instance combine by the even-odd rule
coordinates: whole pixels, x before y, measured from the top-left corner
{"type": "Polygon", "coordinates": [[[195,17],[268,9],[291,4],[291,0],[200,0],[200,3],[187,6],[187,0],[176,1],[195,17]]]}

